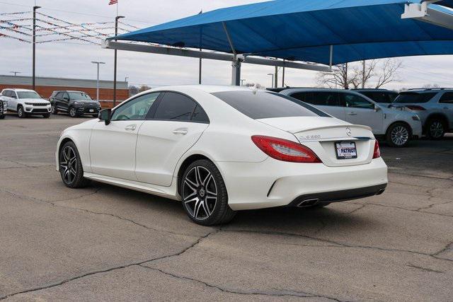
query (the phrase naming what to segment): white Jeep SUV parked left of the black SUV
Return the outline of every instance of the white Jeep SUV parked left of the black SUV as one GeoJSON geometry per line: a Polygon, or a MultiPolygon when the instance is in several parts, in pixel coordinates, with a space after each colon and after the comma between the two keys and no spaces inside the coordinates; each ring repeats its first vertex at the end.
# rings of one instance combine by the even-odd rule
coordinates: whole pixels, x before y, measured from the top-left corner
{"type": "Polygon", "coordinates": [[[40,97],[36,91],[28,89],[4,89],[0,100],[8,102],[8,111],[17,112],[18,117],[42,115],[50,117],[50,102],[40,97]]]}

